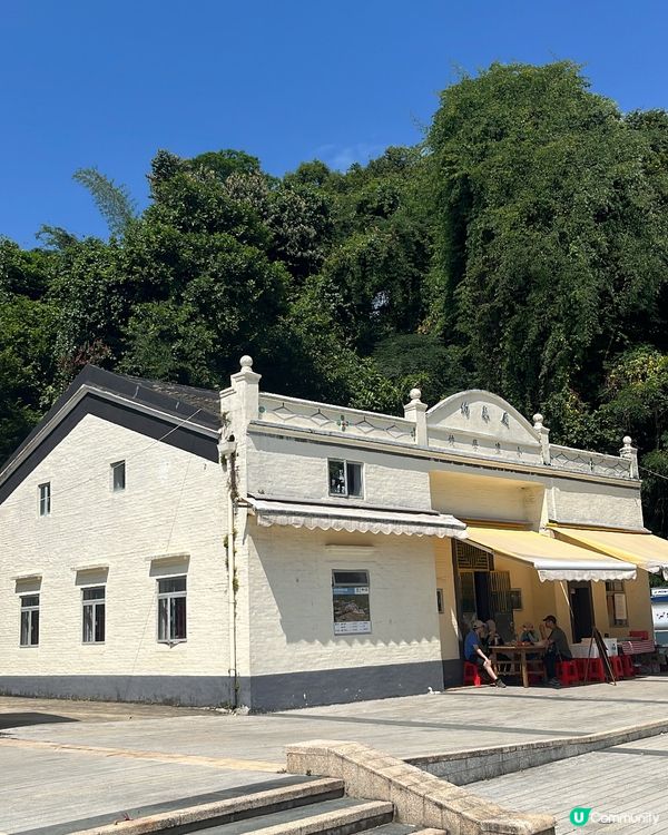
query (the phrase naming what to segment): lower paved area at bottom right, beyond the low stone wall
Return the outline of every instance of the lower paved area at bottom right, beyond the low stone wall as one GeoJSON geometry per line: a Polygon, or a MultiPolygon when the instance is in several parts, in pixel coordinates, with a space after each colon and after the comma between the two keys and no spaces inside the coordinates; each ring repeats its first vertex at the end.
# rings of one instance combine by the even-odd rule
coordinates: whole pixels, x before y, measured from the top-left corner
{"type": "Polygon", "coordinates": [[[668,832],[668,735],[472,783],[468,788],[515,809],[551,813],[557,817],[557,835],[665,835],[668,832]],[[586,826],[574,826],[570,822],[574,806],[591,809],[586,826]],[[603,823],[595,819],[598,815],[639,817],[603,823]]]}

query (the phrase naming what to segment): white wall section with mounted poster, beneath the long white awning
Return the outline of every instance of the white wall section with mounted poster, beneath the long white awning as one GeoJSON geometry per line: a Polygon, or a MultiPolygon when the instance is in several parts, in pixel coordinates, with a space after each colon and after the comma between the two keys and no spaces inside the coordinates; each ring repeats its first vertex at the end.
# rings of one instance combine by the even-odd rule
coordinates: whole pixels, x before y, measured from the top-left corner
{"type": "Polygon", "coordinates": [[[254,676],[440,661],[431,540],[259,528],[253,521],[249,531],[254,676]],[[332,570],[337,568],[370,572],[371,635],[334,635],[332,570]]]}

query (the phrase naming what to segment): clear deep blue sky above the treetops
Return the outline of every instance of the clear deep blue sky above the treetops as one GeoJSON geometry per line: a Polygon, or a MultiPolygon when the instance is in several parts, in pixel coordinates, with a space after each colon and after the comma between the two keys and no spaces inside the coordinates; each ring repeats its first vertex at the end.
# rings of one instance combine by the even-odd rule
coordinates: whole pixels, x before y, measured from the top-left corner
{"type": "Polygon", "coordinates": [[[158,148],[238,148],[283,174],[420,140],[458,68],[586,65],[623,110],[668,107],[656,0],[3,0],[0,235],[106,227],[72,173],[146,205],[158,148]]]}

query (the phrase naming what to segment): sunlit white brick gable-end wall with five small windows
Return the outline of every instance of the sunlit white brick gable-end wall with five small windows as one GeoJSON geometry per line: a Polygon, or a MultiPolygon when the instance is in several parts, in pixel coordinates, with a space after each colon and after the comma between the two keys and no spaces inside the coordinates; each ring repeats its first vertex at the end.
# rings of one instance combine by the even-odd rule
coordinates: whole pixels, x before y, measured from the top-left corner
{"type": "Polygon", "coordinates": [[[84,418],[0,505],[0,675],[227,675],[225,508],[216,463],[84,418]],[[109,465],[122,459],[127,489],[112,493],[109,465]],[[51,515],[40,518],[46,481],[51,515]],[[188,639],[171,649],[156,640],[156,577],[181,573],[186,561],[151,563],[165,553],[189,556],[188,639]],[[109,567],[99,646],[81,642],[73,570],[91,564],[109,567]],[[23,648],[12,578],[35,572],[42,574],[40,641],[23,648]]]}

